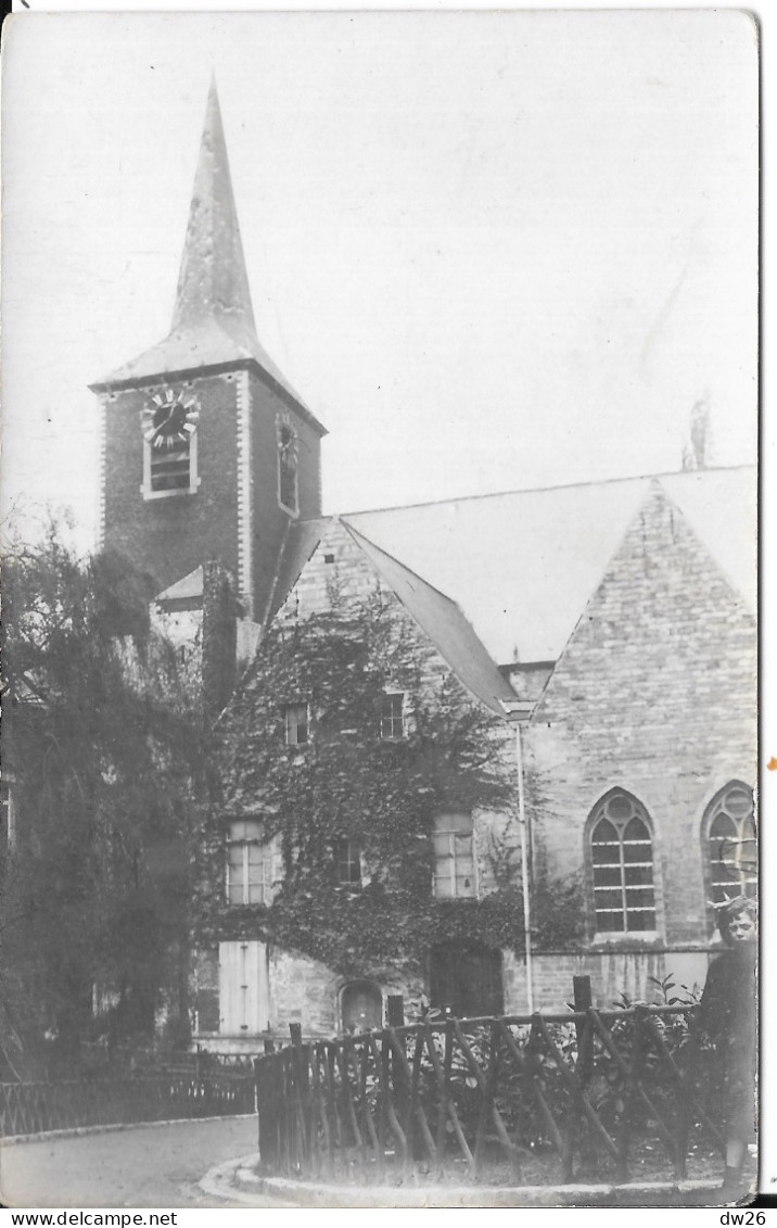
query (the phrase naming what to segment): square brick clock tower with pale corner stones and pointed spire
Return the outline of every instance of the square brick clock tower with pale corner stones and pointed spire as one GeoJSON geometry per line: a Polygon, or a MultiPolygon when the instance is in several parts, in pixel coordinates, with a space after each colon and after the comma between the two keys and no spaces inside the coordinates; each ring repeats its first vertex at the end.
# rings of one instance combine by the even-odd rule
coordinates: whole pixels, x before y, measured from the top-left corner
{"type": "Polygon", "coordinates": [[[290,521],[320,515],[327,432],[257,336],[215,84],[171,332],[91,387],[102,546],[157,592],[218,562],[261,623],[290,521]]]}

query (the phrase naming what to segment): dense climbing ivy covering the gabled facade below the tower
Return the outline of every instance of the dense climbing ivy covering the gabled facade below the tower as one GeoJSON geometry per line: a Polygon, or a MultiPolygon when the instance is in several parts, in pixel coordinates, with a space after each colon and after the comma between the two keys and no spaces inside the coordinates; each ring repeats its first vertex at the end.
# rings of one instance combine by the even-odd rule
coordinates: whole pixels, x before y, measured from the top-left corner
{"type": "MultiPolygon", "coordinates": [[[[230,820],[260,819],[282,850],[270,906],[227,907],[205,876],[203,932],[260,937],[344,975],[420,966],[437,943],[522,949],[523,901],[514,825],[514,766],[504,723],[473,699],[435,647],[379,589],[280,618],[218,725],[222,783],[211,855],[225,857],[230,820]],[[405,736],[382,738],[387,691],[404,694],[405,736]],[[308,705],[309,737],[286,744],[284,712],[308,705]],[[487,887],[437,899],[438,815],[486,813],[487,887]],[[361,882],[338,877],[338,841],[358,851],[361,882]]],[[[223,865],[223,861],[221,861],[223,865]]]]}

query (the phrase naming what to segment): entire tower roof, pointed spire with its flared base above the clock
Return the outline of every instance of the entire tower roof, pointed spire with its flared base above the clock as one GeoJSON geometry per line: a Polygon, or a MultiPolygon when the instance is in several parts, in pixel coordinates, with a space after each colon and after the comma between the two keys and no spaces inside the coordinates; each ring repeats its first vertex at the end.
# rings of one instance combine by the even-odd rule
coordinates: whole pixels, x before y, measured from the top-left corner
{"type": "Polygon", "coordinates": [[[168,336],[92,387],[141,383],[204,367],[258,363],[313,415],[259,338],[237,221],[216,82],[211,81],[168,336]]]}

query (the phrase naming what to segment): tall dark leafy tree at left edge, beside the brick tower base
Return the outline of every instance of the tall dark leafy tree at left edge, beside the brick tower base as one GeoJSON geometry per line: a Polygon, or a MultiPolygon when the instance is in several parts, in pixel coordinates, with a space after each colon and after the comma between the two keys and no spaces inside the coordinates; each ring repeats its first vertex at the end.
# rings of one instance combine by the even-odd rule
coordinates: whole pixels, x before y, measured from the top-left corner
{"type": "Polygon", "coordinates": [[[118,555],[77,559],[55,528],[6,556],[4,996],[28,1040],[55,1035],[64,1055],[93,1032],[96,1000],[115,1039],[147,1032],[163,991],[184,1009],[204,731],[151,589],[118,555]]]}

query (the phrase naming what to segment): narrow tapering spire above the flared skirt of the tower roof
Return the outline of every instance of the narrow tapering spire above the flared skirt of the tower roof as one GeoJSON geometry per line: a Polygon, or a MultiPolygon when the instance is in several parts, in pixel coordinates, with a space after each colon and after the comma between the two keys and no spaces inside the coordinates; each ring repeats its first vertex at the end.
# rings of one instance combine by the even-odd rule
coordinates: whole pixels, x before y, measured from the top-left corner
{"type": "Polygon", "coordinates": [[[214,318],[255,333],[215,77],[207,95],[172,329],[214,318]]]}

